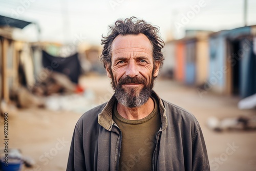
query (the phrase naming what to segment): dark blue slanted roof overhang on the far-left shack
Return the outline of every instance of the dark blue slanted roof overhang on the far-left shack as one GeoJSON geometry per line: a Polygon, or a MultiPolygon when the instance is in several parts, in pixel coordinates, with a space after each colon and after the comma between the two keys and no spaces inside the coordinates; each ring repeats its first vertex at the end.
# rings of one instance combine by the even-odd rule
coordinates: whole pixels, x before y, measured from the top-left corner
{"type": "Polygon", "coordinates": [[[31,22],[25,22],[24,20],[14,19],[7,16],[0,15],[0,26],[9,26],[23,29],[31,24],[31,22]]]}

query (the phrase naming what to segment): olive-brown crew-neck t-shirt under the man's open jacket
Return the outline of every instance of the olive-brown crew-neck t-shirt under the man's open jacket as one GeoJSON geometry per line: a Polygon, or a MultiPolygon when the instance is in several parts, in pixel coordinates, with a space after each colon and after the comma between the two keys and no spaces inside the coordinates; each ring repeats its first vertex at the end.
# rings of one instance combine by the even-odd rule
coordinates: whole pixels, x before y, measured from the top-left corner
{"type": "Polygon", "coordinates": [[[128,120],[113,109],[113,120],[122,132],[119,170],[152,170],[152,157],[156,134],[161,126],[158,102],[154,97],[154,110],[145,118],[128,120]]]}

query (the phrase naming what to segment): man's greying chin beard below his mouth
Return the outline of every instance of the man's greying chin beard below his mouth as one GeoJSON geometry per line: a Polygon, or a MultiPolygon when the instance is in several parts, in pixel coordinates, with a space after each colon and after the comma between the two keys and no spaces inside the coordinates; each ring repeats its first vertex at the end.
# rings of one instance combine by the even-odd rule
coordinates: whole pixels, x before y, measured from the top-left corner
{"type": "Polygon", "coordinates": [[[128,108],[136,108],[145,104],[151,94],[152,88],[150,87],[143,87],[138,93],[135,88],[127,88],[125,91],[121,86],[117,86],[114,96],[120,104],[128,108]]]}

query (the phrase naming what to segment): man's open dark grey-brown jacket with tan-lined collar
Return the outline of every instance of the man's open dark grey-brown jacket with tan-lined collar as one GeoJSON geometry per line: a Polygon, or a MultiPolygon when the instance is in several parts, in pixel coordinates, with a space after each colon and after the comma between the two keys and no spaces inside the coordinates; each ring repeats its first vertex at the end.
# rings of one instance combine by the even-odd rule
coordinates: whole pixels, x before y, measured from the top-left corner
{"type": "MultiPolygon", "coordinates": [[[[196,118],[158,95],[156,97],[162,125],[156,137],[153,170],[210,170],[196,118]]],[[[115,100],[112,97],[108,103],[84,113],[78,120],[67,170],[118,170],[122,134],[112,119],[115,100]]]]}

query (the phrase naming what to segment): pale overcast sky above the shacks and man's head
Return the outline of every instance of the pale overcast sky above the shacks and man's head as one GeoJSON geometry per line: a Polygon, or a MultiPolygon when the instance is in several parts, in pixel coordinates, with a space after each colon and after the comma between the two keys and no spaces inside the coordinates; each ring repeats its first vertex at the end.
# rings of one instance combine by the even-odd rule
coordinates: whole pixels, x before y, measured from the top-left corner
{"type": "MultiPolygon", "coordinates": [[[[256,1],[248,0],[247,25],[256,25],[256,1]]],[[[99,45],[108,25],[136,16],[160,27],[164,40],[185,29],[219,31],[244,26],[244,0],[0,0],[0,15],[36,22],[42,41],[99,45]]],[[[35,39],[35,26],[21,32],[35,39]]]]}

